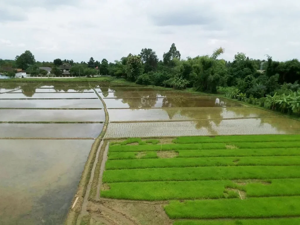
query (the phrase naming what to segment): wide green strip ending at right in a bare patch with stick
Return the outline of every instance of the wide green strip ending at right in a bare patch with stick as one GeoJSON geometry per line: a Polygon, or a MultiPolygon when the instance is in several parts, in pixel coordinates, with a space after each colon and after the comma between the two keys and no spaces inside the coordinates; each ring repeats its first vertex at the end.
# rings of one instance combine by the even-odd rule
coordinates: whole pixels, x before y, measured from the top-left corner
{"type": "Polygon", "coordinates": [[[101,197],[160,201],[170,199],[218,199],[238,198],[238,193],[224,193],[224,187],[234,183],[225,181],[179,181],[179,182],[123,182],[107,184],[110,190],[102,190],[101,197]]]}

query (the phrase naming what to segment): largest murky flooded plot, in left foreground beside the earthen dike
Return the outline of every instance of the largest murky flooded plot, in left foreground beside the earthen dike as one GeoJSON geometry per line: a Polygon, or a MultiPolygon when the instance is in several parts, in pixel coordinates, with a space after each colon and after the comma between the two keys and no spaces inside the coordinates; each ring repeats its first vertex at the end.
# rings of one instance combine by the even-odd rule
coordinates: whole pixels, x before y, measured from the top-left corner
{"type": "Polygon", "coordinates": [[[63,224],[93,140],[0,140],[0,224],[63,224]]]}

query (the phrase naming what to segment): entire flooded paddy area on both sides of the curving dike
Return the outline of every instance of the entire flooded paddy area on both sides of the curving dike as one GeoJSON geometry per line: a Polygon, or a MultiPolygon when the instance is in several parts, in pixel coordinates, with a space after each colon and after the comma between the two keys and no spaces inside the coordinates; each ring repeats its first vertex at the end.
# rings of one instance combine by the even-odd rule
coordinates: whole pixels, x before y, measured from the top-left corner
{"type": "Polygon", "coordinates": [[[0,224],[63,224],[105,121],[95,91],[108,109],[106,138],[300,133],[298,121],[212,96],[105,82],[3,82],[0,224]]]}

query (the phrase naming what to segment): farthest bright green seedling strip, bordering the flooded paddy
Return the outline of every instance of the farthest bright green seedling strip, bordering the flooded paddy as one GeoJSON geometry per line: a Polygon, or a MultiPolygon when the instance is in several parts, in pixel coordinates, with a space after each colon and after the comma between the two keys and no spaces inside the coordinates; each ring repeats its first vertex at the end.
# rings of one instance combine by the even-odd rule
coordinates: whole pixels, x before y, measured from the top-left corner
{"type": "Polygon", "coordinates": [[[199,137],[177,137],[174,143],[192,144],[192,143],[229,143],[229,142],[272,142],[272,141],[300,141],[300,135],[232,135],[232,136],[199,136],[199,137]]]}

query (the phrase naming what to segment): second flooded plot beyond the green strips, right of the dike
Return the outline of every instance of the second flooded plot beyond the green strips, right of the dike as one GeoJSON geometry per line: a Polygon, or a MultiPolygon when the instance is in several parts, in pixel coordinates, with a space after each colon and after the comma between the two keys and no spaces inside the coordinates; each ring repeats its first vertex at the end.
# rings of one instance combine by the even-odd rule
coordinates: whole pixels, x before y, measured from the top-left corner
{"type": "Polygon", "coordinates": [[[177,121],[199,119],[235,119],[278,116],[256,108],[162,108],[162,109],[109,109],[110,121],[177,121]],[[239,110],[238,113],[235,111],[239,110]],[[243,112],[243,113],[242,113],[243,112]]]}

